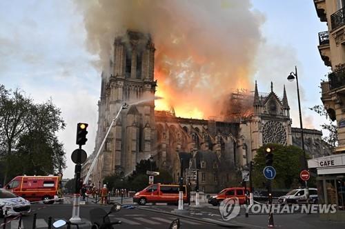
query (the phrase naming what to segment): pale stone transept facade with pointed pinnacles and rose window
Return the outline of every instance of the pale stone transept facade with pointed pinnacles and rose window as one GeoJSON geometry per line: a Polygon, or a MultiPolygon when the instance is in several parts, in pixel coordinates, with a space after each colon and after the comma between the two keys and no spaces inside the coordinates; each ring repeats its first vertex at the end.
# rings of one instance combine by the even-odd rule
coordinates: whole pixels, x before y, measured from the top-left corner
{"type": "Polygon", "coordinates": [[[270,83],[269,93],[259,93],[255,81],[253,117],[240,124],[240,131],[246,136],[244,142],[248,147],[245,159],[239,155],[239,165],[253,161],[258,148],[267,143],[292,145],[290,107],[284,86],[283,97],[278,97],[270,83]]]}

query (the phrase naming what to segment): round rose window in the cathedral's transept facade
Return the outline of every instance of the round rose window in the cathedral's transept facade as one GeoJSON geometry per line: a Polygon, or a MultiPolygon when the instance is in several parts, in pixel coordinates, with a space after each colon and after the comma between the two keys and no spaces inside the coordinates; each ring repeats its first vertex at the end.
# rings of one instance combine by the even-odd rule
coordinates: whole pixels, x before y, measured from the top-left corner
{"type": "Polygon", "coordinates": [[[279,121],[268,121],[262,128],[262,142],[286,145],[286,129],[279,121]]]}

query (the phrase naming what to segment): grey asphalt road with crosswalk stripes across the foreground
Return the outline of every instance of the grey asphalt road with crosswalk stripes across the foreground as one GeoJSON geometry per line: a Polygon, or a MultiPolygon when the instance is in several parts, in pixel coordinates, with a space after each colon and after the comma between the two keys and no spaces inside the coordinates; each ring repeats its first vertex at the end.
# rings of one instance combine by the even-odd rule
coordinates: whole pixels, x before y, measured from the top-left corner
{"type": "MultiPolygon", "coordinates": [[[[126,201],[124,204],[130,204],[130,201],[126,201]]],[[[132,206],[135,206],[135,208],[127,209],[126,206],[124,206],[119,212],[110,214],[111,221],[122,221],[121,225],[114,226],[114,228],[168,228],[170,222],[177,217],[181,219],[181,229],[221,228],[216,226],[216,224],[221,224],[223,226],[239,226],[241,228],[267,228],[268,224],[267,215],[250,214],[247,218],[243,212],[235,219],[223,221],[219,215],[218,208],[207,204],[199,208],[185,205],[184,208],[187,212],[183,216],[175,215],[175,213],[171,212],[175,210],[177,206],[166,206],[161,204],[148,204],[146,206],[137,206],[134,204],[132,206]]],[[[99,206],[95,203],[81,205],[80,216],[83,219],[89,220],[90,210],[92,208],[103,208],[108,211],[110,206],[99,206]]],[[[33,204],[32,213],[23,217],[23,227],[21,228],[32,228],[34,213],[37,214],[37,228],[48,228],[49,217],[52,217],[52,221],[57,219],[70,219],[72,215],[72,204],[68,202],[65,204],[53,205],[33,204]]],[[[274,215],[274,221],[275,228],[345,228],[345,222],[321,221],[317,214],[274,215]]],[[[11,221],[6,228],[17,229],[18,221],[11,221]]],[[[90,228],[90,226],[86,228],[90,228]]]]}

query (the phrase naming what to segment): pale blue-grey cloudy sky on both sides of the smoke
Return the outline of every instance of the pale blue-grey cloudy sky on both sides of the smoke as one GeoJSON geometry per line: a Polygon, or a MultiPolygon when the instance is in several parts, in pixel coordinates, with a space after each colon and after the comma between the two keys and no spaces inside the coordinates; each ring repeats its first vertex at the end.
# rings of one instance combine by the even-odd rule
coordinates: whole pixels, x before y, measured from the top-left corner
{"type": "MultiPolygon", "coordinates": [[[[297,65],[304,126],[320,129],[324,120],[308,108],[321,104],[319,83],[330,71],[317,50],[317,33],[327,30],[326,23],[319,21],[313,1],[253,0],[252,4],[251,10],[264,15],[264,42],[255,54],[257,71],[251,81],[257,80],[260,92],[268,92],[273,81],[278,95],[286,84],[293,126],[299,127],[296,85],[286,81],[297,65]]],[[[36,102],[52,97],[61,108],[67,123],[59,133],[68,159],[64,175],[72,177],[70,154],[77,148],[78,122],[89,123],[85,149],[88,154],[94,150],[101,85],[100,72],[92,64],[99,57],[86,48],[82,12],[69,0],[1,1],[0,28],[0,83],[21,88],[36,102]]]]}

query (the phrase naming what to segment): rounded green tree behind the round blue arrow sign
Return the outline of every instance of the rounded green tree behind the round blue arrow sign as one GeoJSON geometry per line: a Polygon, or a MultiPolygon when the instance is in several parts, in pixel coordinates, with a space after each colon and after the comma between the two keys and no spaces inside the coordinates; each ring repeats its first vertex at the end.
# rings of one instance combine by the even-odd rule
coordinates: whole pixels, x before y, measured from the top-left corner
{"type": "Polygon", "coordinates": [[[297,146],[267,144],[257,150],[254,157],[253,183],[256,187],[264,187],[266,178],[263,170],[266,166],[266,148],[273,154],[273,167],[277,171],[272,181],[273,188],[296,188],[299,186],[299,173],[304,168],[303,150],[297,146]]]}

